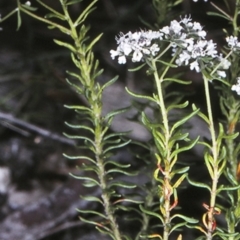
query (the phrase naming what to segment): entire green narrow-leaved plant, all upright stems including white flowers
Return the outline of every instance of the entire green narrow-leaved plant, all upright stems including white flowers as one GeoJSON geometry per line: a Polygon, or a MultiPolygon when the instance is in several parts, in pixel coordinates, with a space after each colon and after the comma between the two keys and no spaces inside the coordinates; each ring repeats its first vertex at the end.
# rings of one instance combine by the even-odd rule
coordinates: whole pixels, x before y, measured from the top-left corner
{"type": "MultiPolygon", "coordinates": [[[[147,76],[153,79],[152,92],[149,95],[139,94],[126,88],[136,102],[139,100],[138,104],[146,106],[144,109],[136,107],[140,109],[137,118],[152,136],[152,139],[144,144],[128,139],[128,132],[110,131],[114,117],[127,111],[127,108],[115,109],[103,114],[103,91],[114,84],[117,77],[104,85],[97,81],[102,70],[99,70],[99,62],[94,57],[93,46],[101,35],[88,41],[89,28],[85,26],[85,20],[97,0],[92,1],[76,20],[71,18],[68,6],[77,4],[81,0],[59,0],[62,12],[56,11],[41,0],[36,2],[51,12],[48,18],[60,19],[67,23],[67,27],[36,15],[34,13],[36,9],[29,1],[22,4],[19,0],[17,0],[18,7],[2,21],[17,12],[20,27],[20,12],[24,12],[71,38],[71,42],[54,41],[71,52],[73,65],[78,72],[68,72],[70,80],[67,81],[85,97],[87,104],[66,106],[75,110],[84,119],[80,124],[67,123],[67,125],[81,129],[85,133],[76,136],[66,135],[69,138],[83,139],[83,148],[88,152],[86,154],[80,152],[78,156],[66,154],[65,156],[69,159],[84,158],[87,161],[87,164],[80,166],[85,174],[72,174],[72,176],[82,180],[86,187],[100,188],[99,196],[84,196],[83,199],[98,203],[103,208],[103,212],[79,209],[81,220],[95,225],[100,232],[114,240],[167,240],[172,236],[180,240],[184,238],[185,232],[189,234],[191,230],[190,236],[195,239],[240,239],[238,234],[240,165],[237,160],[240,144],[236,130],[240,118],[238,97],[240,43],[237,22],[239,0],[235,1],[236,9],[233,16],[210,3],[215,7],[216,12],[209,14],[225,19],[233,29],[231,33],[225,31],[226,44],[221,51],[213,40],[206,40],[208,36],[203,26],[193,21],[190,16],[172,20],[169,25],[159,27],[157,30],[152,28],[120,33],[116,37],[117,47],[116,50],[110,50],[111,58],[117,58],[119,64],[127,64],[130,58],[137,65],[131,71],[144,69],[147,76]],[[192,79],[182,79],[186,76],[181,73],[187,68],[201,74],[206,111],[198,108],[194,102],[189,106],[188,94],[177,90],[171,91],[173,88],[178,88],[176,84],[179,86],[192,84],[192,79]],[[176,69],[180,69],[180,74],[175,72],[176,69]],[[219,94],[221,112],[224,116],[221,121],[213,116],[210,87],[215,88],[219,94]],[[151,110],[150,114],[147,108],[151,110]],[[204,123],[203,126],[209,130],[209,139],[203,136],[191,137],[191,130],[187,124],[192,119],[194,121],[200,119],[204,123]],[[218,121],[217,126],[216,121],[218,121]],[[148,178],[144,186],[121,180],[140,173],[133,171],[131,164],[113,160],[117,149],[128,147],[131,142],[147,152],[147,157],[144,156],[142,159],[145,163],[142,169],[145,170],[148,178]],[[190,176],[191,166],[183,159],[184,154],[190,154],[196,145],[204,148],[201,159],[202,165],[208,172],[209,181],[193,179],[190,176]],[[200,219],[185,214],[178,208],[181,202],[181,187],[190,185],[207,192],[206,200],[202,203],[204,213],[200,219]],[[121,223],[118,220],[119,210],[126,211],[126,216],[139,223],[134,236],[125,233],[121,230],[121,226],[119,227],[121,223]],[[91,218],[91,215],[97,218],[91,218]]],[[[158,14],[166,13],[181,2],[169,1],[169,4],[161,5],[160,0],[153,0],[153,7],[158,14]]],[[[228,8],[227,1],[224,2],[228,8]]],[[[157,25],[163,25],[161,19],[157,25]]],[[[190,127],[195,126],[192,124],[190,127]]],[[[141,158],[137,153],[135,156],[141,158]]]]}

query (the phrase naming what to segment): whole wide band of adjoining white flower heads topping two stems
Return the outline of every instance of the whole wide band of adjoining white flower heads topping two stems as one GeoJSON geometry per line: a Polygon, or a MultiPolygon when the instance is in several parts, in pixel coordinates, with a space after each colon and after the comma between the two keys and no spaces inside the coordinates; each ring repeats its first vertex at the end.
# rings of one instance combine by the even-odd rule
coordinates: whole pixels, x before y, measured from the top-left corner
{"type": "MultiPolygon", "coordinates": [[[[177,54],[178,66],[190,66],[191,70],[200,72],[201,68],[211,68],[214,62],[220,63],[223,58],[218,55],[216,44],[212,40],[205,40],[206,32],[198,22],[192,22],[190,17],[184,17],[180,21],[173,20],[169,26],[159,31],[140,31],[121,33],[116,38],[118,47],[111,50],[111,57],[118,57],[118,63],[125,64],[126,58],[132,56],[133,62],[140,62],[146,58],[156,56],[163,42],[169,42],[172,53],[177,54]]],[[[216,71],[217,77],[225,77],[225,71],[230,63],[223,60],[221,69],[216,71]]]]}

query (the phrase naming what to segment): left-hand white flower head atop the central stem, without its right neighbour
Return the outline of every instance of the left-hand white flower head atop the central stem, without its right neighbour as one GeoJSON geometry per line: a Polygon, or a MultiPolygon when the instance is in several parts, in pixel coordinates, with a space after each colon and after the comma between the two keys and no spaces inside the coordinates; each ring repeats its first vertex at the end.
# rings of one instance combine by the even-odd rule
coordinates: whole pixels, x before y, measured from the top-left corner
{"type": "Polygon", "coordinates": [[[126,56],[132,54],[133,62],[140,62],[144,55],[155,56],[160,48],[156,43],[152,43],[154,39],[161,39],[161,33],[156,31],[140,31],[121,33],[119,38],[116,38],[118,47],[117,50],[111,50],[112,59],[118,57],[118,63],[126,63],[126,56]]]}

